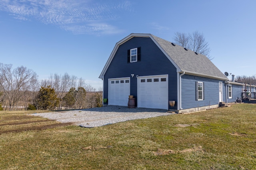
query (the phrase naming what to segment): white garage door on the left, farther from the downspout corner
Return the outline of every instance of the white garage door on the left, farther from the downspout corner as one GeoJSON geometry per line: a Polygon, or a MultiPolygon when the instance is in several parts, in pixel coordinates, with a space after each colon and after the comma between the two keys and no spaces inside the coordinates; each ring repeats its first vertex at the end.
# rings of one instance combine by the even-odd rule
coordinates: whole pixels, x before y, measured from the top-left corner
{"type": "Polygon", "coordinates": [[[108,105],[128,106],[130,78],[108,80],[108,105]]]}

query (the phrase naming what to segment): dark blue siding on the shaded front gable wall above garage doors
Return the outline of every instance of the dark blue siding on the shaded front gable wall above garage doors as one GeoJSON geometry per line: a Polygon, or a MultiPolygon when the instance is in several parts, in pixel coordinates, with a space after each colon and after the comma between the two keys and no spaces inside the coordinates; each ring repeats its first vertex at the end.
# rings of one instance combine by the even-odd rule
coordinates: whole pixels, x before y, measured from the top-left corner
{"type": "Polygon", "coordinates": [[[162,74],[168,74],[168,99],[176,101],[173,109],[177,109],[177,72],[175,66],[152,39],[149,37],[133,37],[118,47],[104,74],[104,98],[108,98],[108,78],[130,77],[130,95],[137,98],[136,75],[150,76],[162,74]],[[141,48],[141,61],[128,63],[127,51],[137,47],[141,48]],[[131,74],[135,76],[132,78],[131,74]]]}

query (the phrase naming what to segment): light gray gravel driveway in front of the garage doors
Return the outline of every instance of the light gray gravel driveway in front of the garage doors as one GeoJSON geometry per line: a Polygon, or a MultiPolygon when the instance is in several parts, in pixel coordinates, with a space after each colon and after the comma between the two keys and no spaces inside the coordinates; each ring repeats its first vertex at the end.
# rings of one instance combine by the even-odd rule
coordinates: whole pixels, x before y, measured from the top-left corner
{"type": "Polygon", "coordinates": [[[106,106],[91,109],[34,113],[32,115],[53,119],[61,123],[71,122],[81,127],[98,127],[122,121],[171,115],[164,109],[128,108],[125,106],[106,106]]]}

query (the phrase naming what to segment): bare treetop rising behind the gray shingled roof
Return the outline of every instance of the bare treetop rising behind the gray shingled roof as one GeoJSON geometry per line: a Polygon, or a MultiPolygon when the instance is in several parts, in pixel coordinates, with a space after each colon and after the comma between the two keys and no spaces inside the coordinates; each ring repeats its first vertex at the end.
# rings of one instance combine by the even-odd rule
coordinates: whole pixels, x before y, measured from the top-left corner
{"type": "Polygon", "coordinates": [[[174,37],[174,43],[190,49],[196,53],[200,53],[212,60],[210,56],[210,47],[208,42],[204,38],[204,34],[198,31],[194,31],[192,34],[176,32],[174,37]]]}

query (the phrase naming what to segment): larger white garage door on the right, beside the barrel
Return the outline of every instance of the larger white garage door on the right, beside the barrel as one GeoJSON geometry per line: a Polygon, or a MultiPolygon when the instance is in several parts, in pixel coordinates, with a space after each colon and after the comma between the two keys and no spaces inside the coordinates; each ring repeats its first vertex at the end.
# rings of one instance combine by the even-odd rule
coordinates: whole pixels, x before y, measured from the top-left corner
{"type": "Polygon", "coordinates": [[[138,78],[138,107],[168,109],[168,76],[138,78]]]}

